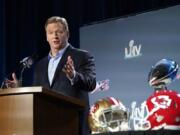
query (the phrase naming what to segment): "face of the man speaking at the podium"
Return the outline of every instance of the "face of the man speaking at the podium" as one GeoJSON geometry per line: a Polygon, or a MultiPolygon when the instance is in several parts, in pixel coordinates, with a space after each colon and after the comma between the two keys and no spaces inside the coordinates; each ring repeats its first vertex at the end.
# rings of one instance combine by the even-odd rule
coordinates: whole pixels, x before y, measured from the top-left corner
{"type": "Polygon", "coordinates": [[[69,33],[61,23],[50,23],[46,27],[46,37],[51,50],[60,50],[65,47],[69,33]]]}

